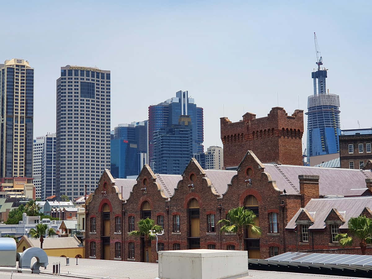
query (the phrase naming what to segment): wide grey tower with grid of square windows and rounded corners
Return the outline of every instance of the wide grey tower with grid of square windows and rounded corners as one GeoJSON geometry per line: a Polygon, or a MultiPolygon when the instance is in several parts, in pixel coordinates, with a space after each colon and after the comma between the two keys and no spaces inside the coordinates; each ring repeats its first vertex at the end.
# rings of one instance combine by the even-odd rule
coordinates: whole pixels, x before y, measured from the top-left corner
{"type": "Polygon", "coordinates": [[[92,193],[110,169],[110,71],[61,67],[57,79],[56,194],[92,193]]]}

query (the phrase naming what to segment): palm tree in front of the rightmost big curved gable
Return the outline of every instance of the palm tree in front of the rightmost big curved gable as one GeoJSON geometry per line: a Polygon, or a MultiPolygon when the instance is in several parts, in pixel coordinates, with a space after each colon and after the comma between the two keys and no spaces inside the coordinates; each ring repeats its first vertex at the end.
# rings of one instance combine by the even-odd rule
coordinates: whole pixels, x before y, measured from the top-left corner
{"type": "Polygon", "coordinates": [[[227,212],[227,219],[221,219],[217,224],[223,223],[221,227],[222,232],[235,232],[239,240],[239,249],[243,251],[243,237],[244,237],[244,227],[250,227],[253,234],[261,235],[261,228],[257,227],[254,223],[254,218],[256,215],[251,210],[244,209],[244,207],[239,206],[237,208],[230,209],[227,212]]]}

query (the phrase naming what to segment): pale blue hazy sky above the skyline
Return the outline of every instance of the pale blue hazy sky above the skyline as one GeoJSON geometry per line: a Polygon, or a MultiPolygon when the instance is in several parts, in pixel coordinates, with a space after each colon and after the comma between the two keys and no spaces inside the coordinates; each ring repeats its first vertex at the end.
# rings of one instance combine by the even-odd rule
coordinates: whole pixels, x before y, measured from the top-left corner
{"type": "Polygon", "coordinates": [[[34,138],[56,130],[60,67],[80,65],[111,70],[112,129],[188,90],[206,148],[221,146],[222,116],[266,116],[278,96],[289,115],[307,111],[316,32],[341,129],[371,127],[372,2],[299,2],[6,1],[0,61],[35,68],[34,138]]]}

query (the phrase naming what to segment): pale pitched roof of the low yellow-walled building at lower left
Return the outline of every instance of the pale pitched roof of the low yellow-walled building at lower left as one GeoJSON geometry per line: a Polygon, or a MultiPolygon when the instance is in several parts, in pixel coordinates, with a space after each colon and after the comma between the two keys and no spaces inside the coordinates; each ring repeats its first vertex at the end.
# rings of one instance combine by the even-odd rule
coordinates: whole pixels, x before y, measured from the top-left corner
{"type": "MultiPolygon", "coordinates": [[[[29,238],[23,235],[23,240],[27,241],[32,247],[40,247],[40,240],[37,238],[29,238]]],[[[21,239],[21,240],[22,240],[21,239]]],[[[21,241],[19,241],[20,243],[21,241]]],[[[43,242],[44,249],[58,249],[58,248],[78,248],[83,247],[81,242],[74,237],[45,237],[43,242]]]]}

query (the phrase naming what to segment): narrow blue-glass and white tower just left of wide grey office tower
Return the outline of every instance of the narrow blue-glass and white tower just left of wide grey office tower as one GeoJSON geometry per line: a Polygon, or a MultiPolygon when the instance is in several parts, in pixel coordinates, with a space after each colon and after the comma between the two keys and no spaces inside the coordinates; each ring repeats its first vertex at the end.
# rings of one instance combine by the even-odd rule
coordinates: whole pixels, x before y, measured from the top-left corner
{"type": "Polygon", "coordinates": [[[57,134],[48,133],[44,137],[41,158],[41,199],[55,195],[57,134]]]}

